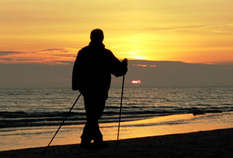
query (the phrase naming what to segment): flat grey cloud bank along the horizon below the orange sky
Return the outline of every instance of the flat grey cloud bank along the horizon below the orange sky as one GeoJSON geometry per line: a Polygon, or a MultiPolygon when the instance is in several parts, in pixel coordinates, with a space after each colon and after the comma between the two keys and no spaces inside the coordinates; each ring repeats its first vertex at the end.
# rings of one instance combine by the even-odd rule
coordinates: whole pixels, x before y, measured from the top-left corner
{"type": "MultiPolygon", "coordinates": [[[[60,64],[23,63],[1,64],[0,87],[70,87],[73,62],[56,60],[60,64]]],[[[140,80],[142,87],[213,87],[233,86],[231,63],[189,64],[169,61],[129,60],[126,86],[135,86],[132,80],[140,80]],[[156,65],[144,68],[135,65],[156,65]]],[[[112,86],[120,86],[121,78],[113,77],[112,86]]],[[[139,82],[139,81],[138,81],[139,82]]]]}

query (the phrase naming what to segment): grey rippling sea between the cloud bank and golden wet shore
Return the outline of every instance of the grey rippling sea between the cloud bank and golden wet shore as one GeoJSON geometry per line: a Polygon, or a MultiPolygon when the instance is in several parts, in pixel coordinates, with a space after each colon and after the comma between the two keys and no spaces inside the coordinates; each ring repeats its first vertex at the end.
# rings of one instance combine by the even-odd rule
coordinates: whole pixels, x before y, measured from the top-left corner
{"type": "MultiPolygon", "coordinates": [[[[0,137],[11,138],[30,134],[19,129],[54,127],[65,118],[64,126],[83,125],[85,110],[80,97],[71,113],[68,113],[78,91],[69,88],[0,89],[0,137]]],[[[101,123],[116,123],[119,120],[121,88],[111,88],[101,123]]],[[[191,114],[193,116],[223,117],[233,124],[233,87],[205,88],[143,88],[124,89],[121,121],[144,120],[153,117],[191,114]],[[225,117],[230,115],[230,117],[225,117]],[[227,119],[226,119],[227,118],[227,119]],[[229,118],[229,119],[228,119],[229,118]]],[[[190,118],[193,119],[193,118],[190,118]]],[[[220,119],[221,120],[221,119],[220,119]]],[[[191,121],[191,120],[190,120],[191,121]]],[[[176,121],[176,124],[189,123],[176,121]]],[[[150,122],[151,124],[151,122],[150,122]]],[[[171,120],[163,121],[171,124],[171,120]]],[[[154,125],[161,125],[159,122],[154,125]]],[[[141,124],[140,126],[148,126],[141,124]]],[[[29,130],[30,131],[30,130],[29,130]]],[[[52,133],[52,132],[51,132],[52,133]]],[[[37,134],[39,135],[40,132],[37,134]]],[[[7,149],[8,141],[0,140],[0,150],[7,149]]],[[[10,149],[10,148],[9,148],[10,149]]]]}

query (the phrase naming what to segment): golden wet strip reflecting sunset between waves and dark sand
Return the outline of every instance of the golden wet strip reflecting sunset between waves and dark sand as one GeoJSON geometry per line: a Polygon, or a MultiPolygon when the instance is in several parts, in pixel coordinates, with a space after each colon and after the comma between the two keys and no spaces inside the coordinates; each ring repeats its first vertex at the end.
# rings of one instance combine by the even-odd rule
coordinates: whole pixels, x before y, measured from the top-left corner
{"type": "MultiPolygon", "coordinates": [[[[46,146],[58,126],[4,129],[0,151],[46,146]]],[[[118,123],[101,123],[105,141],[114,141],[118,123]]],[[[233,113],[178,114],[121,122],[120,140],[233,128],[233,113]]],[[[63,126],[51,145],[79,144],[83,125],[63,126]]]]}

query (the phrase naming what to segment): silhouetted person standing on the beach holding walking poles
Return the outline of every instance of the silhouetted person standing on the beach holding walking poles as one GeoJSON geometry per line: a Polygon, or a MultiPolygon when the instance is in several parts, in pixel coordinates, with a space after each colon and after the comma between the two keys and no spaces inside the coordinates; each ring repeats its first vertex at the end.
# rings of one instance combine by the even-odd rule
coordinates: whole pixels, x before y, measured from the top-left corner
{"type": "Polygon", "coordinates": [[[121,62],[105,48],[102,30],[94,29],[90,38],[89,45],[78,52],[72,76],[72,89],[79,90],[84,97],[87,121],[81,136],[83,147],[88,147],[92,140],[94,144],[104,144],[98,120],[108,98],[111,74],[116,77],[126,74],[128,64],[127,59],[121,62]]]}

